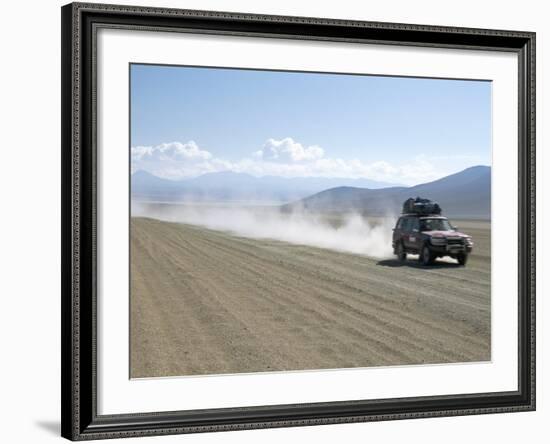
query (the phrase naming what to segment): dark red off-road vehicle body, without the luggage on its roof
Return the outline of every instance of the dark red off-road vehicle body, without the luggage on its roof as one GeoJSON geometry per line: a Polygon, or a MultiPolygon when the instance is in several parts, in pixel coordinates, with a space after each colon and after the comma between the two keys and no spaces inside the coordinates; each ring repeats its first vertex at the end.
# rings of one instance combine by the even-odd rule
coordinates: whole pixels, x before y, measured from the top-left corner
{"type": "Polygon", "coordinates": [[[436,258],[443,256],[450,256],[460,265],[465,265],[474,245],[472,238],[459,232],[446,217],[423,211],[399,217],[393,229],[392,244],[400,261],[405,261],[408,253],[418,254],[424,265],[431,265],[436,258]]]}

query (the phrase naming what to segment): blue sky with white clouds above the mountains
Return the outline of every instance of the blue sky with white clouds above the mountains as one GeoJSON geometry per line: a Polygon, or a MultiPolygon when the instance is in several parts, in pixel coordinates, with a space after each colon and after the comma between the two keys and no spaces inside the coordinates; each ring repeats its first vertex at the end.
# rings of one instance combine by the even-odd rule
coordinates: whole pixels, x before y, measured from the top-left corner
{"type": "Polygon", "coordinates": [[[491,83],[131,65],[132,169],[413,185],[491,164],[491,83]]]}

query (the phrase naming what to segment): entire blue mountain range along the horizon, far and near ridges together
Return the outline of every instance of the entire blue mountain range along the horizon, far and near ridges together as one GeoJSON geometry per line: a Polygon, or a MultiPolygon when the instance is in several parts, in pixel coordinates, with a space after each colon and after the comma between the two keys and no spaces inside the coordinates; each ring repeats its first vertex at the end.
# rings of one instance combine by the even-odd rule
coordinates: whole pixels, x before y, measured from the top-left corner
{"type": "Polygon", "coordinates": [[[358,211],[371,216],[397,214],[406,199],[420,196],[438,202],[450,217],[491,218],[488,166],[474,166],[413,187],[369,179],[254,177],[233,172],[174,181],[145,171],[132,174],[131,186],[132,198],[143,201],[279,202],[286,212],[358,211]]]}

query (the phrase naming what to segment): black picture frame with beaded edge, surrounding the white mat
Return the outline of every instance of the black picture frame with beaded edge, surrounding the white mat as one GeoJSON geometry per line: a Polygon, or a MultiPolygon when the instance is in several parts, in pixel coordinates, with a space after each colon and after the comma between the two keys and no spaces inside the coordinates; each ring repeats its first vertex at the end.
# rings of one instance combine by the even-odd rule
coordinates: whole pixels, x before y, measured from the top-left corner
{"type": "Polygon", "coordinates": [[[72,3],[62,14],[62,436],[71,440],[535,409],[535,33],[72,3]],[[518,390],[143,414],[97,414],[98,27],[510,51],[519,62],[518,390]]]}

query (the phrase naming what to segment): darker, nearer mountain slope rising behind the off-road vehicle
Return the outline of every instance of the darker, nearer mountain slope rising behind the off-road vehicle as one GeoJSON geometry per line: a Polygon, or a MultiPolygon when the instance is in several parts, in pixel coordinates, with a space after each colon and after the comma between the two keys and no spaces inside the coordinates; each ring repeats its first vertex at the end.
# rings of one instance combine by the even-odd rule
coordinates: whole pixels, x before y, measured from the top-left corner
{"type": "Polygon", "coordinates": [[[475,166],[413,187],[365,189],[340,186],[283,205],[284,211],[359,211],[368,215],[396,214],[409,197],[438,202],[450,217],[491,218],[491,168],[475,166]]]}

